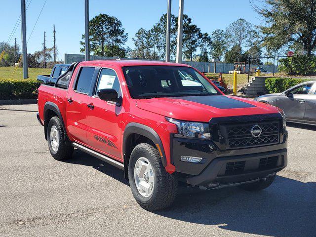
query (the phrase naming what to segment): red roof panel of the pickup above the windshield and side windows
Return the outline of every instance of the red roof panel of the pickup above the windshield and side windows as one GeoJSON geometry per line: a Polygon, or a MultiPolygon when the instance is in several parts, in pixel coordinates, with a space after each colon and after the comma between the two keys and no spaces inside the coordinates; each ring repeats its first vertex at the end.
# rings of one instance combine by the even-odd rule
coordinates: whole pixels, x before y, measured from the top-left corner
{"type": "Polygon", "coordinates": [[[183,66],[190,67],[187,64],[180,63],[167,63],[163,61],[148,61],[148,60],[94,60],[94,61],[82,61],[80,65],[95,65],[95,64],[104,64],[104,65],[113,65],[119,67],[125,66],[183,66]]]}

